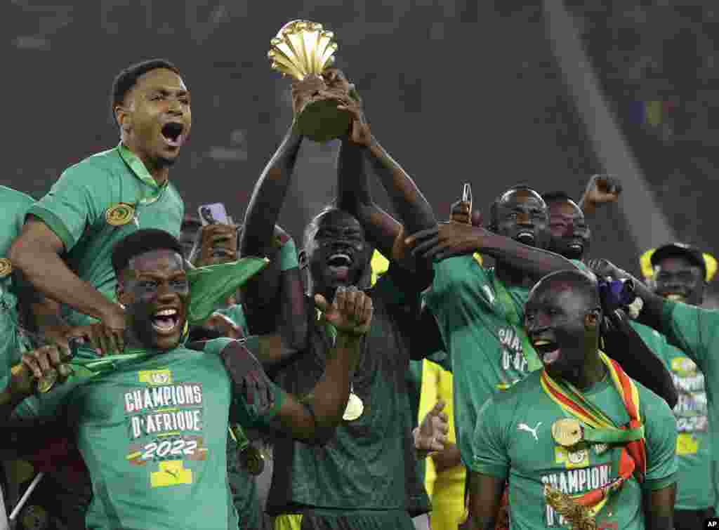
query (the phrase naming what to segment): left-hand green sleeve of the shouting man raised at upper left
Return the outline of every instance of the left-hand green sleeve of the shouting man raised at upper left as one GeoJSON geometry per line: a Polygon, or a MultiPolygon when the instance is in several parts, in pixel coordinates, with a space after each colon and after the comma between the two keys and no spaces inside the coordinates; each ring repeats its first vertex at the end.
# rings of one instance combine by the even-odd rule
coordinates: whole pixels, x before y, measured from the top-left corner
{"type": "Polygon", "coordinates": [[[73,165],[28,211],[55,232],[66,252],[72,250],[85,228],[104,214],[108,186],[101,182],[103,173],[91,163],[73,165]]]}

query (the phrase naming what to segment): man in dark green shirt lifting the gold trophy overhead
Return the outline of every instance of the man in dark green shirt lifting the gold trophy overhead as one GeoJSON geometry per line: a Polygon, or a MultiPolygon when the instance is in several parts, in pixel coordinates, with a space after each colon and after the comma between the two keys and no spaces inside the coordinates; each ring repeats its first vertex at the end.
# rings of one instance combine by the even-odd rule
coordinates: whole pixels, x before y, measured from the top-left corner
{"type": "MultiPolygon", "coordinates": [[[[296,83],[293,101],[301,101],[303,95],[315,91],[343,86],[342,91],[347,93],[349,83],[344,74],[330,69],[323,78],[308,76],[296,83]]],[[[295,111],[298,107],[294,105],[295,111]]],[[[354,116],[351,131],[342,139],[342,148],[352,147],[354,155],[367,157],[383,168],[383,175],[390,175],[390,180],[405,182],[406,173],[371,137],[366,124],[359,122],[356,109],[344,105],[338,109],[354,116]]],[[[302,140],[295,122],[257,182],[244,221],[242,255],[265,255],[273,247],[273,227],[302,140]]],[[[344,161],[341,159],[340,164],[344,161]]],[[[344,187],[344,183],[339,186],[344,187]]],[[[416,332],[423,285],[392,259],[387,273],[370,288],[373,246],[392,257],[393,241],[385,239],[377,244],[381,238],[376,237],[372,227],[348,210],[346,195],[353,194],[340,190],[338,205],[314,216],[304,230],[299,260],[306,277],[306,295],[293,309],[304,317],[304,344],[299,351],[279,360],[275,381],[303,395],[321,375],[334,332],[321,312],[309,304],[315,293],[330,296],[349,285],[366,289],[374,303],[375,318],[362,344],[344,422],[334,436],[326,439],[321,448],[308,447],[288,437],[278,437],[273,443],[275,472],[267,511],[278,516],[278,530],[413,530],[411,516],[427,511],[426,494],[416,477],[416,448],[441,449],[445,438],[443,432],[436,431],[434,436],[424,437],[424,445],[422,429],[417,431],[415,441],[412,437],[413,418],[405,378],[413,353],[409,337],[416,332]]],[[[407,222],[420,224],[418,228],[411,226],[410,231],[435,224],[426,201],[419,201],[418,208],[429,211],[429,218],[418,216],[413,208],[416,205],[406,208],[407,222]]],[[[267,277],[265,280],[276,281],[267,277]]],[[[255,298],[252,305],[259,302],[255,298]]],[[[251,311],[248,307],[248,313],[251,311]]]]}

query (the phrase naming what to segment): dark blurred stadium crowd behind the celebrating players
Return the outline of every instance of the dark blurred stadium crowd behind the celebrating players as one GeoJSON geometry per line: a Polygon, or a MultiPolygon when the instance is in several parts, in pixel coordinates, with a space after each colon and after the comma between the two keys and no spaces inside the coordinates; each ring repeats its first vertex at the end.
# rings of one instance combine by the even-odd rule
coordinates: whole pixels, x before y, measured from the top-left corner
{"type": "MultiPolygon", "coordinates": [[[[242,219],[292,117],[288,80],[267,60],[270,39],[302,18],[335,32],[372,131],[438,216],[464,182],[486,210],[515,183],[579,198],[590,175],[610,173],[604,133],[580,101],[593,87],[636,162],[618,176],[648,186],[654,202],[629,193],[603,211],[590,255],[638,272],[635,257],[664,232],[628,219],[638,209],[654,219],[652,208],[679,241],[719,249],[715,1],[12,0],[0,9],[9,52],[0,181],[35,198],[63,168],[116,145],[112,78],[163,57],[193,98],[193,137],[172,174],[188,213],[224,201],[242,219]],[[557,9],[586,53],[592,76],[581,83],[559,60],[567,41],[555,34],[557,9]]],[[[311,152],[294,179],[295,206],[280,219],[297,239],[335,186],[334,145],[303,149],[311,152]]]]}

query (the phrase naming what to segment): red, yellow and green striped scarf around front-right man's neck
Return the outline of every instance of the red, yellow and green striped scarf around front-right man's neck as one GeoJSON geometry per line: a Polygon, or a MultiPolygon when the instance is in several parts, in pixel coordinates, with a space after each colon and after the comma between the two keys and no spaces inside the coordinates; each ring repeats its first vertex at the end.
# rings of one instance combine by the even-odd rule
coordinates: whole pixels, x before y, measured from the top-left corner
{"type": "Polygon", "coordinates": [[[599,355],[607,367],[629,415],[628,426],[617,427],[606,414],[587,401],[574,385],[553,380],[546,370],[541,373],[541,385],[549,398],[557,403],[564,412],[585,424],[585,427],[590,427],[590,429],[583,429],[585,440],[624,444],[619,457],[618,478],[601,488],[582,495],[570,496],[575,502],[589,508],[592,515],[600,511],[607,502],[609,494],[618,490],[632,475],[636,480],[642,482],[646,473],[644,426],[641,424],[639,415],[638,390],[618,362],[610,359],[604,352],[600,351],[599,355]]]}

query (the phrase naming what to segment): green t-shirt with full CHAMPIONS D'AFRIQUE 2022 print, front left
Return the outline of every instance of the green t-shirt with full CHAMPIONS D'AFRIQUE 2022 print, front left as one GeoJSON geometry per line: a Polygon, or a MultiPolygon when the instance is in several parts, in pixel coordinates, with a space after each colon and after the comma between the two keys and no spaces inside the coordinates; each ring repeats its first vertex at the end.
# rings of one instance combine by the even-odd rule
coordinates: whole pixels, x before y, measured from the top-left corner
{"type": "Polygon", "coordinates": [[[17,408],[21,417],[63,414],[73,426],[93,484],[89,530],[238,528],[226,470],[228,421],[266,424],[284,394],[273,386],[275,404],[262,417],[233,399],[217,355],[230,341],[210,341],[204,352],[150,352],[90,379],[72,376],[17,408]]]}

